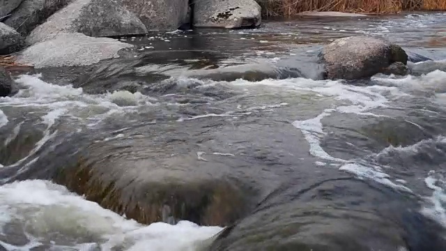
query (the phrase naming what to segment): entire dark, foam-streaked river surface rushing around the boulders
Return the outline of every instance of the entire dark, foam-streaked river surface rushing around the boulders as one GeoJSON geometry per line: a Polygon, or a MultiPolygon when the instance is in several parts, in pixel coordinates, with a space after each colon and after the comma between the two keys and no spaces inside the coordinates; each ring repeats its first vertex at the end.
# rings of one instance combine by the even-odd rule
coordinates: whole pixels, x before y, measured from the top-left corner
{"type": "Polygon", "coordinates": [[[0,250],[446,250],[445,22],[153,33],[122,38],[137,49],[98,66],[17,71],[22,89],[0,98],[0,250]],[[410,63],[414,76],[318,80],[323,44],[364,34],[433,61],[410,63]],[[91,192],[81,166],[119,192],[86,198],[117,213],[63,186],[91,192]],[[146,225],[114,204],[174,185],[162,203],[180,217],[146,225]],[[211,188],[215,204],[192,210],[211,188]]]}

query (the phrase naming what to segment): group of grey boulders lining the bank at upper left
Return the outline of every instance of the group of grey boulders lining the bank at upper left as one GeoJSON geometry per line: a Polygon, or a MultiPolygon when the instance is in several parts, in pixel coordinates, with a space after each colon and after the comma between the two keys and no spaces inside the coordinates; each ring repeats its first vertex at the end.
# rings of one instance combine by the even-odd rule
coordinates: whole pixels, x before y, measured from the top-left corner
{"type": "MultiPolygon", "coordinates": [[[[86,66],[133,47],[107,37],[173,31],[190,22],[230,29],[261,23],[254,0],[192,3],[193,8],[190,0],[0,0],[0,55],[27,47],[17,54],[18,63],[86,66]]],[[[8,84],[0,76],[0,86],[8,84]]],[[[0,96],[8,95],[5,90],[0,96]]]]}

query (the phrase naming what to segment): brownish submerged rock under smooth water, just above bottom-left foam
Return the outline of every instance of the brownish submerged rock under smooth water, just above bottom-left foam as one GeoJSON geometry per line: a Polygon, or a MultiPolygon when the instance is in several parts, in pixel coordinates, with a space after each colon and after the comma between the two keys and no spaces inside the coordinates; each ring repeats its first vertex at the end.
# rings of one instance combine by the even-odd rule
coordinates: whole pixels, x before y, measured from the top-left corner
{"type": "Polygon", "coordinates": [[[95,141],[59,167],[54,181],[144,224],[224,226],[247,215],[258,202],[255,183],[231,168],[227,156],[191,152],[187,134],[176,133],[182,128],[153,124],[95,141]],[[207,161],[217,158],[226,161],[207,161]]]}

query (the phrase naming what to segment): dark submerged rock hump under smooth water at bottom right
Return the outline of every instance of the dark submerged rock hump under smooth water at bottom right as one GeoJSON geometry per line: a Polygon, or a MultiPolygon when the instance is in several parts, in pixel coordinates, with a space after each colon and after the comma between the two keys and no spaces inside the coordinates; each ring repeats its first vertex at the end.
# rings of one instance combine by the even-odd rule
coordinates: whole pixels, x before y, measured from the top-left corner
{"type": "MultiPolygon", "coordinates": [[[[328,170],[327,170],[328,171],[328,170]]],[[[328,171],[330,172],[330,171],[328,171]]],[[[305,183],[305,181],[300,181],[305,183]]],[[[217,237],[210,251],[445,250],[442,227],[397,191],[348,176],[277,190],[217,237]],[[367,190],[366,194],[360,191],[367,190]],[[360,199],[362,197],[363,199],[360,199]]]]}

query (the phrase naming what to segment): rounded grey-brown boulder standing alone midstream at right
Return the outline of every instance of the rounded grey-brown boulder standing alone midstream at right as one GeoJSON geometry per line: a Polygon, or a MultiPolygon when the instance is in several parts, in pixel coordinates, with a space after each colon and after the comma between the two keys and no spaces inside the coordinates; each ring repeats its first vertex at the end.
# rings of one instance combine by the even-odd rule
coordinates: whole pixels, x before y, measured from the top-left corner
{"type": "Polygon", "coordinates": [[[339,38],[321,52],[328,79],[360,79],[380,73],[392,63],[407,63],[407,54],[387,40],[367,36],[339,38]]]}

